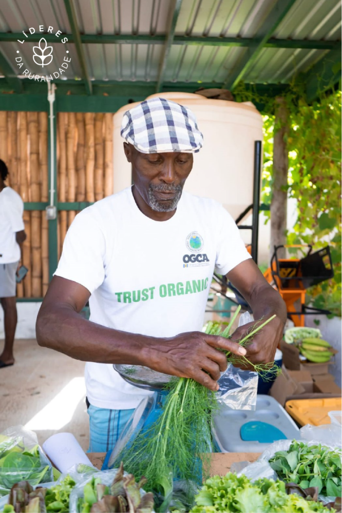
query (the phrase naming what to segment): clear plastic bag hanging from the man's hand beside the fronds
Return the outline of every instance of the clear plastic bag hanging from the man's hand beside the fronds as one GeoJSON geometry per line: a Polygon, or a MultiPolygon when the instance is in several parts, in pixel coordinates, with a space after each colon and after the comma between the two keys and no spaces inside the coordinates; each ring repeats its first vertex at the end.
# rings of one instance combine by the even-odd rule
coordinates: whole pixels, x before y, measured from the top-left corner
{"type": "MultiPolygon", "coordinates": [[[[239,326],[253,321],[249,312],[240,315],[239,326]]],[[[220,388],[217,392],[219,404],[229,406],[233,410],[255,410],[258,374],[251,370],[242,370],[229,365],[222,372],[218,381],[220,388]]]]}

